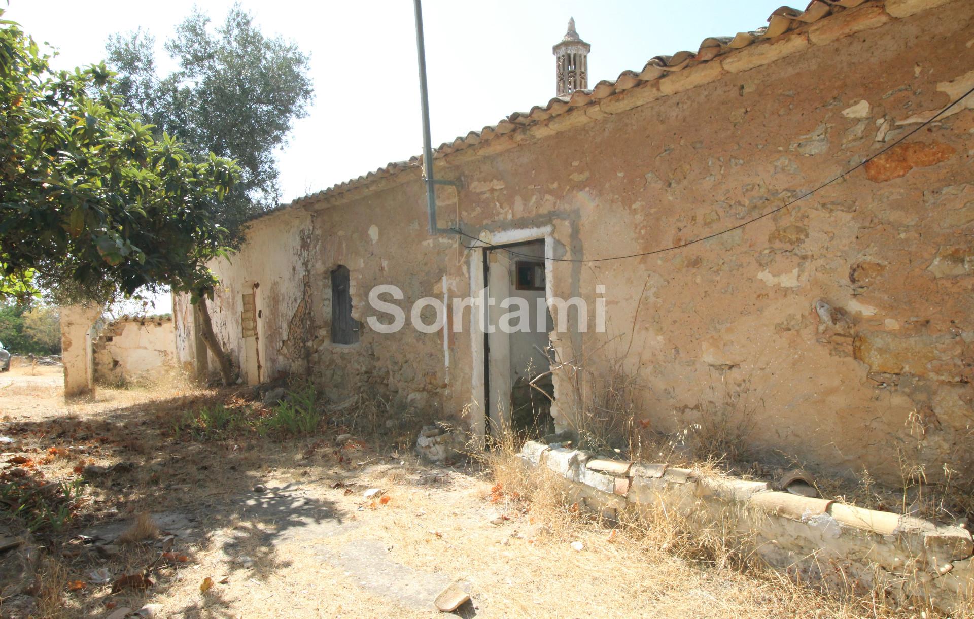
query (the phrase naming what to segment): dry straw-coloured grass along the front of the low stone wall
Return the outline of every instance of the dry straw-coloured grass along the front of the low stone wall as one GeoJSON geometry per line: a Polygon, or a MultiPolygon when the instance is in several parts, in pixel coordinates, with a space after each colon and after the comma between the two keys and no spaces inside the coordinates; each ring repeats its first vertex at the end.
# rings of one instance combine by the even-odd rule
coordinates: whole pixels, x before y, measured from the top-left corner
{"type": "MultiPolygon", "coordinates": [[[[630,507],[613,521],[585,513],[572,502],[566,485],[545,467],[528,470],[510,444],[496,445],[484,464],[496,482],[493,498],[525,511],[537,534],[535,544],[556,548],[581,541],[612,578],[572,581],[591,599],[618,599],[630,585],[654,603],[658,617],[946,617],[935,609],[897,607],[881,589],[856,591],[851,585],[820,589],[791,572],[768,567],[753,553],[750,540],[737,533],[730,518],[701,521],[665,507],[630,507]]],[[[510,509],[510,508],[507,508],[510,509]]],[[[568,571],[566,569],[566,571],[568,571]]],[[[586,574],[598,573],[588,563],[586,574]]],[[[620,604],[618,616],[637,614],[620,604]]],[[[971,608],[967,609],[972,610],[971,608]]],[[[964,610],[954,616],[967,616],[964,610]]]]}

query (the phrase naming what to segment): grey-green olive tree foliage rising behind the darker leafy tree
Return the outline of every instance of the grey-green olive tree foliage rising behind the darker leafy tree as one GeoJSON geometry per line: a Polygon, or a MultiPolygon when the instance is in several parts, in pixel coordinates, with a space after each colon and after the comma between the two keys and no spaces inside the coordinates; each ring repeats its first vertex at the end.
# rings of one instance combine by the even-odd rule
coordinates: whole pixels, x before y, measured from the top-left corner
{"type": "Polygon", "coordinates": [[[275,151],[293,121],[307,114],[313,96],[308,56],[281,37],[264,36],[239,5],[215,27],[194,9],[166,42],[178,66],[169,75],[158,74],[155,39],[145,31],[116,34],[106,47],[126,107],[190,152],[212,152],[240,165],[240,181],[219,213],[236,246],[248,217],[278,205],[275,151]]]}

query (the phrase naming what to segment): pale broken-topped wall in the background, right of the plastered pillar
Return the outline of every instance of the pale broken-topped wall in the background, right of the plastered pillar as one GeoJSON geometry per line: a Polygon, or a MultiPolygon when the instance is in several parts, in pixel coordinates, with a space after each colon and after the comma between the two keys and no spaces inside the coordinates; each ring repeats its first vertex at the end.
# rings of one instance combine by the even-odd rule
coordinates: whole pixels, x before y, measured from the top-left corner
{"type": "Polygon", "coordinates": [[[109,323],[94,342],[94,379],[117,384],[138,380],[175,365],[171,318],[109,323]]]}

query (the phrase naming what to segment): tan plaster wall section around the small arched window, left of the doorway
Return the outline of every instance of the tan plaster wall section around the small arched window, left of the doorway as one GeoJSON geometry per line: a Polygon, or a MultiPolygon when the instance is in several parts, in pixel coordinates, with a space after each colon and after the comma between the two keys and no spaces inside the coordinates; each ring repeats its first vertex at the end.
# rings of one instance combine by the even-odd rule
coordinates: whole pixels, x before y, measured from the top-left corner
{"type": "MultiPolygon", "coordinates": [[[[417,412],[432,409],[455,411],[468,398],[468,382],[453,380],[455,366],[444,354],[442,331],[420,333],[410,326],[410,307],[416,300],[443,298],[444,284],[450,297],[468,294],[463,275],[465,251],[452,237],[431,237],[424,218],[426,192],[419,171],[401,174],[390,188],[370,193],[355,202],[328,205],[314,214],[319,238],[317,260],[312,272],[312,307],[317,333],[313,342],[314,368],[318,382],[332,397],[362,392],[391,401],[398,409],[412,406],[417,412]],[[361,323],[356,344],[334,344],[331,332],[330,273],[344,265],[349,269],[352,315],[361,323]],[[390,317],[369,304],[370,290],[394,285],[404,299],[381,298],[403,309],[406,327],[395,333],[369,329],[368,316],[383,323],[390,317]],[[451,397],[455,397],[451,401],[451,397]]],[[[452,209],[445,199],[444,209],[452,209]]],[[[435,320],[435,310],[423,312],[426,324],[435,320]]],[[[449,334],[469,339],[464,333],[449,334]]]]}

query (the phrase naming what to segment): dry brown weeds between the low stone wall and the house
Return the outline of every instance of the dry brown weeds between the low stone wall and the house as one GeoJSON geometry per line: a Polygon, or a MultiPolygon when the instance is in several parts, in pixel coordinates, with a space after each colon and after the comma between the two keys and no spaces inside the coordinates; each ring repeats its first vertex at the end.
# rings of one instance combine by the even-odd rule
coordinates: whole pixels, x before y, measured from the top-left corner
{"type": "Polygon", "coordinates": [[[572,411],[569,422],[574,423],[577,446],[583,449],[765,481],[780,479],[791,469],[804,469],[819,474],[815,485],[824,497],[935,522],[974,522],[974,483],[958,474],[971,469],[974,456],[969,449],[959,449],[951,462],[933,470],[920,462],[920,441],[925,436],[922,415],[907,420],[907,430],[918,443],[904,445],[896,453],[900,484],[879,484],[866,470],[856,479],[843,479],[794,455],[752,446],[751,435],[766,394],[754,387],[750,376],[731,384],[728,373],[711,374],[697,404],[679,411],[685,426],[678,432],[655,431],[651,411],[641,405],[652,394],[623,360],[601,359],[592,364],[595,370],[586,368],[586,358],[581,356],[581,361],[556,364],[553,369],[563,379],[559,404],[572,411]]]}

